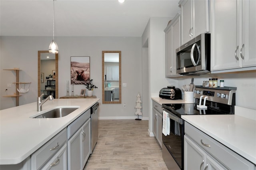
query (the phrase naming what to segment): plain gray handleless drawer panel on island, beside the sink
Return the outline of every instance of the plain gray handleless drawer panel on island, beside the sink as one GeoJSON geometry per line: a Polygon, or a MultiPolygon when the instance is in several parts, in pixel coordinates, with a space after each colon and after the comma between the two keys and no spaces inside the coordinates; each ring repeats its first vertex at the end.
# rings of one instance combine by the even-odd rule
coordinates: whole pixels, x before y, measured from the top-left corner
{"type": "Polygon", "coordinates": [[[68,139],[73,136],[73,134],[90,118],[91,109],[88,109],[80,117],[78,117],[74,122],[68,125],[68,139]]]}

